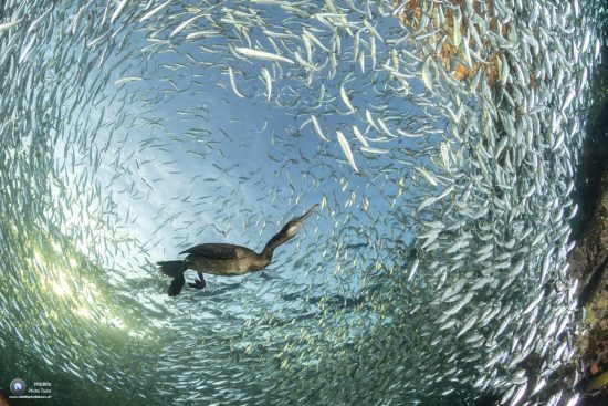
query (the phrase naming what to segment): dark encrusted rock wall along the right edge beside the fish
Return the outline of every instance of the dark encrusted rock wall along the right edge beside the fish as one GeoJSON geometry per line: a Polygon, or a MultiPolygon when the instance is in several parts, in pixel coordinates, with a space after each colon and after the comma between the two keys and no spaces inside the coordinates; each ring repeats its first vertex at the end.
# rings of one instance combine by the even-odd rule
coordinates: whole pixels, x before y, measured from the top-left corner
{"type": "Polygon", "coordinates": [[[581,405],[604,404],[608,388],[600,376],[608,368],[608,46],[602,45],[602,63],[594,74],[594,106],[589,131],[577,174],[581,215],[573,225],[577,247],[570,269],[579,281],[578,306],[583,308],[583,334],[577,337],[578,387],[581,405]],[[604,387],[604,388],[602,388],[604,387]]]}

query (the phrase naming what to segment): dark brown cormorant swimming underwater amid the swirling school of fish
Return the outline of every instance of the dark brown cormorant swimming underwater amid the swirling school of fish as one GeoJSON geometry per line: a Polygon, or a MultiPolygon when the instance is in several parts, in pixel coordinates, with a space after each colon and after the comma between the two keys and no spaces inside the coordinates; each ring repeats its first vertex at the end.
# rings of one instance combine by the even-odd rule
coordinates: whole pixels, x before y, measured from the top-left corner
{"type": "Polygon", "coordinates": [[[169,285],[169,296],[176,296],[181,292],[186,283],[184,272],[188,269],[197,271],[199,275],[198,281],[188,283],[190,288],[202,289],[206,285],[203,273],[233,277],[266,268],[276,247],[291,240],[317,206],[318,204],[315,204],[304,215],[287,221],[260,253],[230,243],[201,243],[181,251],[180,253],[188,253],[184,260],[157,262],[163,273],[174,278],[169,285]]]}

